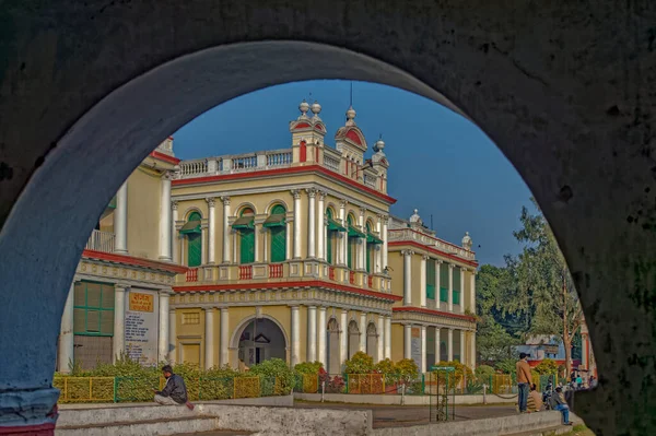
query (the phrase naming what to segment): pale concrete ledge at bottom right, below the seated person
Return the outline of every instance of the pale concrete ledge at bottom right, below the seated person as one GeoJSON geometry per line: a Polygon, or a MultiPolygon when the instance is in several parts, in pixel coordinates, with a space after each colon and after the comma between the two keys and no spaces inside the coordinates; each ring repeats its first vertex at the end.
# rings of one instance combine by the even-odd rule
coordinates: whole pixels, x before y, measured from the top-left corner
{"type": "MultiPolygon", "coordinates": [[[[517,414],[484,420],[455,421],[411,427],[388,427],[373,431],[375,436],[499,436],[540,431],[561,425],[560,412],[517,414]]],[[[572,427],[567,427],[572,428],[572,427]]]]}

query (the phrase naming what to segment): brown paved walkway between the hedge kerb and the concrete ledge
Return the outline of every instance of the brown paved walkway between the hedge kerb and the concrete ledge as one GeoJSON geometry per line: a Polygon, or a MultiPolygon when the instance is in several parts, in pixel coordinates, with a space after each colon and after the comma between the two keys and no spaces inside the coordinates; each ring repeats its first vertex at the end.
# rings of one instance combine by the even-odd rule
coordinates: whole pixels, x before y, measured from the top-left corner
{"type": "MultiPolygon", "coordinates": [[[[342,410],[371,410],[374,428],[402,427],[429,423],[427,405],[374,405],[344,403],[294,402],[295,408],[320,408],[342,410]]],[[[515,404],[509,405],[456,405],[456,421],[480,420],[483,417],[508,416],[516,414],[515,404]]],[[[452,412],[449,411],[449,419],[452,412]]]]}

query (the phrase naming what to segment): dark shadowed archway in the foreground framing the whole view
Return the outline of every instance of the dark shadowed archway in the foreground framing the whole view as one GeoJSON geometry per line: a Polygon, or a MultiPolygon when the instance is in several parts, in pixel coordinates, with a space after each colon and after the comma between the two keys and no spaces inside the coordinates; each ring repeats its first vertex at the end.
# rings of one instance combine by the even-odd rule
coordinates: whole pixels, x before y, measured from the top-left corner
{"type": "Polygon", "coordinates": [[[600,388],[575,411],[597,434],[655,433],[656,397],[643,384],[656,378],[643,364],[656,358],[647,7],[151,0],[3,11],[13,26],[0,74],[0,405],[23,392],[45,420],[86,236],[163,138],[265,86],[351,79],[467,114],[500,146],[560,241],[595,343],[600,388]]]}

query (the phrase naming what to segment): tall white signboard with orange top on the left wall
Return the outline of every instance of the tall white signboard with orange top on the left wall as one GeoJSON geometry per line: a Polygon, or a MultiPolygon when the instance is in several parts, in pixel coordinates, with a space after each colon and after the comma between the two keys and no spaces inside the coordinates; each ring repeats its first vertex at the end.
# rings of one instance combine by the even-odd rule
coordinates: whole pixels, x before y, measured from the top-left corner
{"type": "Polygon", "coordinates": [[[131,288],[125,318],[126,354],[142,365],[157,364],[156,292],[131,288]]]}

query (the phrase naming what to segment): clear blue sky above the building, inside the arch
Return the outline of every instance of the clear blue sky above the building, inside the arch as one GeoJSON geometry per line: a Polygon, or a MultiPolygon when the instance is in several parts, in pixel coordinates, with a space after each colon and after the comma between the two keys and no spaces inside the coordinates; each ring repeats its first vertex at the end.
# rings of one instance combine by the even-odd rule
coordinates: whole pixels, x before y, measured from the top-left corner
{"type": "MultiPolygon", "coordinates": [[[[303,98],[323,106],[326,142],[335,145],[350,87],[348,81],[309,81],[244,95],[175,132],[175,153],[184,160],[291,148],[289,121],[303,98]]],[[[370,146],[366,157],[383,134],[388,192],[398,200],[393,214],[409,217],[419,209],[429,226],[432,214],[437,236],[458,245],[469,232],[481,264],[501,266],[505,254],[520,250],[512,232],[530,191],[478,127],[432,101],[373,83],[353,82],[353,108],[370,146]]]]}

